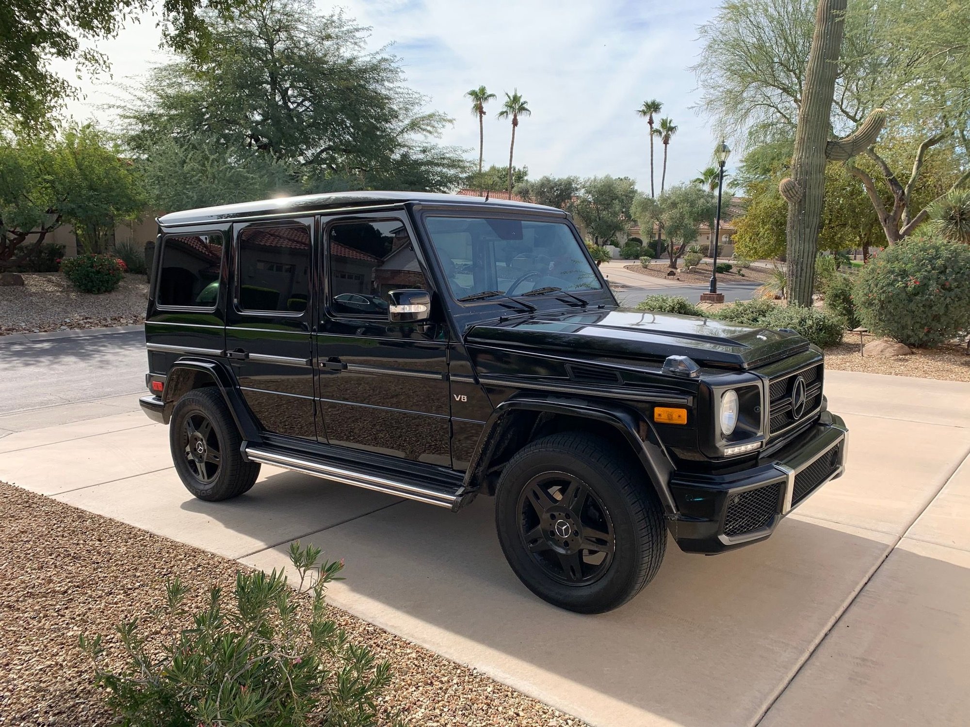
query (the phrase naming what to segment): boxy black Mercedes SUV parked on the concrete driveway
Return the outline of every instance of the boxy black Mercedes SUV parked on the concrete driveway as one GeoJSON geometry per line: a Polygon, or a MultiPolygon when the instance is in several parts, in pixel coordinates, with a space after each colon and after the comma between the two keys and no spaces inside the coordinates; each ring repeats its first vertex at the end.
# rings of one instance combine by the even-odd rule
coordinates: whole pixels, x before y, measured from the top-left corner
{"type": "Polygon", "coordinates": [[[522,582],[597,613],[667,531],[764,540],[844,470],[818,348],[620,310],[562,210],[355,192],[158,224],[141,404],[202,499],[260,462],[456,511],[494,495],[522,582]]]}

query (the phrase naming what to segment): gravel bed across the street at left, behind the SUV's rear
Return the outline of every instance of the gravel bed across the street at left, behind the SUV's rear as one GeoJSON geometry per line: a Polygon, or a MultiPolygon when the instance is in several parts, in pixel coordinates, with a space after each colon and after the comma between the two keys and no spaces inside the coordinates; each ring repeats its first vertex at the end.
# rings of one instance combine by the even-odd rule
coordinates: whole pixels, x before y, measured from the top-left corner
{"type": "Polygon", "coordinates": [[[0,335],[126,326],[145,321],[145,275],[125,275],[112,293],[81,293],[59,272],[23,274],[0,287],[0,335]]]}

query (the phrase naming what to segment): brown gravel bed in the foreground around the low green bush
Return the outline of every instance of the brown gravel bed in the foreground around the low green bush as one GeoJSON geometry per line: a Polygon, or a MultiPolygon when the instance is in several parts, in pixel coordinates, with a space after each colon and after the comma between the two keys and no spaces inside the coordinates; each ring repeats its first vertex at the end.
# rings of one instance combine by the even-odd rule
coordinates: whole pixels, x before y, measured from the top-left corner
{"type": "MultiPolygon", "coordinates": [[[[239,563],[0,483],[0,725],[109,725],[78,636],[113,634],[162,605],[166,578],[231,589],[239,563]]],[[[339,553],[330,553],[331,557],[339,553]]],[[[352,572],[344,572],[353,579],[352,572]]],[[[329,607],[394,681],[381,707],[415,727],[583,727],[511,687],[329,607]]],[[[111,650],[113,640],[106,638],[111,650]]]]}

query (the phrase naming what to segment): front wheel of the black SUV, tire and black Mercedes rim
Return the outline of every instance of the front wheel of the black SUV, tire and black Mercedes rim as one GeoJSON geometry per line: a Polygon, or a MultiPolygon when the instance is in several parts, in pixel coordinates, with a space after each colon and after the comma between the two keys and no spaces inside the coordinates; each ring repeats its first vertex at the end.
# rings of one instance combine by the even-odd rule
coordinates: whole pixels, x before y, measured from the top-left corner
{"type": "Polygon", "coordinates": [[[663,510],[646,475],[628,453],[580,432],[537,439],[509,460],[496,527],[519,580],[580,614],[625,604],[657,575],[666,550],[663,510]]]}

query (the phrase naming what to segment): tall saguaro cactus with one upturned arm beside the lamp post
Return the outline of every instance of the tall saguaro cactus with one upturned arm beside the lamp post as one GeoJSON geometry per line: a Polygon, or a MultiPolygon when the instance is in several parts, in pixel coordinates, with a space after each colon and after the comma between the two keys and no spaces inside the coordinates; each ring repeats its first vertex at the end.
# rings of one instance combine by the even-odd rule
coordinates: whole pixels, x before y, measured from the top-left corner
{"type": "Polygon", "coordinates": [[[875,143],[886,121],[885,111],[877,109],[853,134],[844,139],[828,139],[845,11],[846,0],[819,0],[812,49],[805,67],[805,90],[798,110],[792,175],[778,185],[789,204],[786,260],[790,305],[812,304],[825,163],[829,159],[850,159],[875,143]]]}

